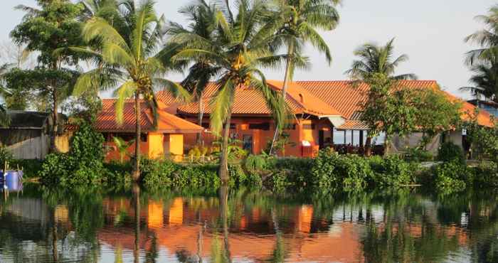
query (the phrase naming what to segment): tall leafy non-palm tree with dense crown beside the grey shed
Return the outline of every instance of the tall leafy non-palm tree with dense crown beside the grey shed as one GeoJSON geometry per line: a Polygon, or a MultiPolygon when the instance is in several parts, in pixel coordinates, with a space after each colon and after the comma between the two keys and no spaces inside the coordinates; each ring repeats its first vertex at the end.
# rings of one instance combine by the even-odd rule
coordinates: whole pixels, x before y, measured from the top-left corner
{"type": "MultiPolygon", "coordinates": [[[[58,133],[58,108],[68,94],[66,82],[60,82],[61,75],[68,70],[65,65],[78,65],[80,56],[75,55],[68,47],[81,45],[81,24],[78,16],[82,6],[69,0],[37,0],[39,9],[28,6],[16,6],[16,9],[26,11],[23,21],[11,32],[11,38],[17,45],[26,45],[27,50],[37,51],[38,73],[45,71],[51,78],[45,77],[44,91],[51,97],[51,112],[53,128],[51,130],[51,151],[55,149],[55,136],[58,133]],[[60,49],[57,54],[55,50],[60,49]]],[[[27,75],[33,75],[26,70],[27,75]]],[[[38,74],[34,74],[38,75],[38,74]]],[[[63,78],[63,77],[62,77],[63,78]]],[[[33,80],[35,81],[35,80],[33,80]]]]}

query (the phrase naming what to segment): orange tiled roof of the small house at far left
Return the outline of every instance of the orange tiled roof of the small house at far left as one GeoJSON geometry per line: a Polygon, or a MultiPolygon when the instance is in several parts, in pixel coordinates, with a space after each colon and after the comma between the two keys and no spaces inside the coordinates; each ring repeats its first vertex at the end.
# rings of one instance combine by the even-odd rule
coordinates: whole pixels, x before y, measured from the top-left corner
{"type": "MultiPolygon", "coordinates": [[[[116,122],[116,100],[102,100],[102,111],[97,116],[95,122],[96,129],[101,132],[134,132],[135,114],[134,101],[127,100],[124,102],[123,123],[116,122]]],[[[188,122],[184,119],[169,114],[164,110],[166,104],[159,101],[157,130],[154,129],[152,113],[147,107],[147,103],[142,100],[140,108],[142,110],[142,130],[144,132],[164,132],[164,133],[196,133],[203,130],[202,127],[188,122]]]]}

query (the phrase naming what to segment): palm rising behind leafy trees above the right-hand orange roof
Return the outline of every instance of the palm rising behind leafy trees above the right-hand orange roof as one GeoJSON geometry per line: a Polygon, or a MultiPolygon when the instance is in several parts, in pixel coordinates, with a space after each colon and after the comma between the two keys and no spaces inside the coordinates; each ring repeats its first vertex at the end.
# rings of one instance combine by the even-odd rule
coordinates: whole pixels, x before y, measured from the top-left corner
{"type": "MultiPolygon", "coordinates": [[[[363,81],[369,85],[372,84],[371,80],[373,80],[376,75],[382,75],[386,79],[394,82],[397,80],[417,79],[415,74],[395,75],[396,68],[399,64],[408,60],[408,55],[403,54],[398,56],[398,58],[393,58],[393,42],[394,38],[383,46],[373,43],[361,45],[360,48],[354,51],[354,55],[358,56],[359,60],[353,61],[351,69],[347,70],[346,74],[354,80],[355,84],[359,81],[363,81]]],[[[366,136],[365,152],[367,156],[370,155],[371,139],[373,135],[375,134],[370,130],[366,136]]]]}

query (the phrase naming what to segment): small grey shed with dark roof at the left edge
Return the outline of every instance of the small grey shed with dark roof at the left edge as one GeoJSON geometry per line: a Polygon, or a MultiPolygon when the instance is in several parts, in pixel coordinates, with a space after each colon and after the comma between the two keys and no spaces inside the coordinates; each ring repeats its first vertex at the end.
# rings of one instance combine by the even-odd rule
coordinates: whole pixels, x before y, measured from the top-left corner
{"type": "Polygon", "coordinates": [[[11,110],[9,127],[0,127],[0,144],[16,159],[44,159],[50,146],[51,117],[46,112],[11,110]]]}

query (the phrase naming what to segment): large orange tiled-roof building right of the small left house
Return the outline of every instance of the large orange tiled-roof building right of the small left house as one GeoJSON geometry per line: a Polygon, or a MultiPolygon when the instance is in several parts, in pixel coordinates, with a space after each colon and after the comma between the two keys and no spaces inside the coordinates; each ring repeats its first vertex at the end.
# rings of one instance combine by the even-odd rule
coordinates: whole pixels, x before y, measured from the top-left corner
{"type": "MultiPolygon", "coordinates": [[[[268,80],[267,84],[274,90],[281,90],[282,82],[268,80]]],[[[414,89],[440,90],[434,80],[404,80],[400,86],[414,89]]],[[[353,85],[351,81],[297,81],[290,83],[285,98],[292,109],[295,118],[288,129],[290,144],[280,155],[285,156],[314,156],[319,149],[332,145],[364,146],[366,131],[369,127],[361,122],[361,102],[367,98],[369,85],[360,83],[353,85]]],[[[202,126],[209,127],[210,102],[217,91],[215,83],[211,83],[203,93],[201,105],[203,107],[202,126]]],[[[442,91],[443,92],[443,91],[442,91]]],[[[462,103],[462,119],[472,118],[475,106],[458,99],[445,92],[448,100],[462,103]]],[[[199,102],[181,104],[176,102],[166,92],[158,93],[159,100],[168,105],[167,110],[190,122],[198,123],[199,102]]],[[[481,111],[478,116],[481,125],[492,126],[492,117],[488,112],[481,111]]],[[[238,87],[235,90],[231,119],[231,137],[243,141],[243,148],[253,154],[260,154],[267,148],[275,132],[270,109],[257,90],[251,87],[238,87]]],[[[410,138],[393,140],[393,149],[403,149],[406,146],[416,146],[420,141],[420,134],[413,134],[410,138]],[[408,141],[408,142],[407,142],[408,141]],[[413,145],[411,145],[413,144],[413,145]]],[[[450,131],[447,138],[455,144],[464,146],[465,136],[461,131],[450,131]]],[[[203,144],[210,145],[214,136],[203,133],[203,144]]],[[[382,144],[383,139],[374,139],[382,144]]],[[[186,135],[186,147],[196,145],[196,136],[186,135]]],[[[432,151],[437,151],[440,138],[435,138],[432,151]]]]}

